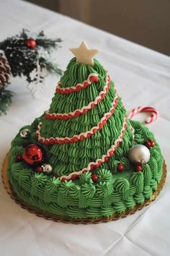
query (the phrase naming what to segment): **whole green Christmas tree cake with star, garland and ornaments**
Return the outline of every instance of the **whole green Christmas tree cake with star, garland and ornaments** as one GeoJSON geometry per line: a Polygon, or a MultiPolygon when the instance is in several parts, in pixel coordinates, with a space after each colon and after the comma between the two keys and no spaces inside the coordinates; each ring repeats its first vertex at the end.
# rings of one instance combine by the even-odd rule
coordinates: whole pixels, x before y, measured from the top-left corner
{"type": "Polygon", "coordinates": [[[46,216],[112,219],[152,197],[163,157],[153,133],[128,119],[98,51],[85,42],[71,51],[49,110],[12,140],[9,184],[46,216]]]}

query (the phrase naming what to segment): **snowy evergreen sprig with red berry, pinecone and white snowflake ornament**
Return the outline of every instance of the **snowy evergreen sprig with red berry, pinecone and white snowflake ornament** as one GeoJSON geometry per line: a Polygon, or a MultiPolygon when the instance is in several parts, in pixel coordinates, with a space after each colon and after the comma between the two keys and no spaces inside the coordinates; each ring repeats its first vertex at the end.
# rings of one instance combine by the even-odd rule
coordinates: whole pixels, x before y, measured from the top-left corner
{"type": "Polygon", "coordinates": [[[11,76],[24,76],[27,88],[37,98],[48,73],[63,73],[58,64],[51,61],[51,52],[60,47],[59,43],[60,38],[48,38],[43,31],[31,33],[24,29],[19,35],[0,42],[0,115],[5,114],[12,103],[13,93],[5,88],[11,76]]]}

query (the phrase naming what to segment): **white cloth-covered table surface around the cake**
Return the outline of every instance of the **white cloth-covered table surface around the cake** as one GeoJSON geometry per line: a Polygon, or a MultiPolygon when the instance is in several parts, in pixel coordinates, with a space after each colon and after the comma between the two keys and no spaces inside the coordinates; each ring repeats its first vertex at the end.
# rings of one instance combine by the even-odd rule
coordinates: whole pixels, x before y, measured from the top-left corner
{"type": "MultiPolygon", "coordinates": [[[[112,20],[114,22],[114,19],[112,20]]],[[[0,1],[0,40],[19,33],[22,28],[45,30],[50,37],[63,39],[53,57],[66,69],[72,54],[69,47],[81,40],[100,48],[97,58],[108,69],[125,107],[154,106],[160,112],[150,125],[161,145],[166,163],[170,164],[170,58],[128,40],[24,1],[0,1]]],[[[44,93],[33,99],[24,78],[12,79],[16,92],[12,107],[0,117],[0,164],[10,148],[12,138],[24,124],[48,109],[56,76],[48,76],[44,93]]],[[[0,255],[169,255],[170,249],[170,179],[147,208],[133,216],[97,225],[54,223],[38,218],[6,194],[0,184],[0,255]]]]}

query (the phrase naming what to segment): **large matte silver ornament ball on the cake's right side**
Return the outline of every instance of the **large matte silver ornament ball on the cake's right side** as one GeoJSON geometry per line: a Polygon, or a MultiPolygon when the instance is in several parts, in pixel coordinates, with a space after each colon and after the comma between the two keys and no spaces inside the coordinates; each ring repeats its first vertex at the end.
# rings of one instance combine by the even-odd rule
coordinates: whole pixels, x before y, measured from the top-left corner
{"type": "Polygon", "coordinates": [[[148,163],[150,156],[151,154],[148,148],[140,144],[134,145],[128,153],[128,158],[132,163],[148,163]]]}

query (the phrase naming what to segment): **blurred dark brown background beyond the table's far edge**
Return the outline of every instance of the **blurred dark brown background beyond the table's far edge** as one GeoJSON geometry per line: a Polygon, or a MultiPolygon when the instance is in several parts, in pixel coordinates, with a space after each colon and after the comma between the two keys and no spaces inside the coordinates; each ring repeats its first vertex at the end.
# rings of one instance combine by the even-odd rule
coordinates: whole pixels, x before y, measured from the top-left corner
{"type": "Polygon", "coordinates": [[[27,0],[170,55],[170,0],[27,0]]]}

